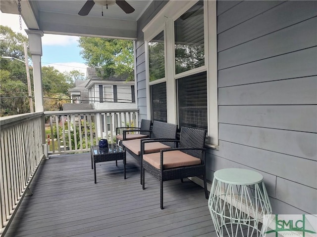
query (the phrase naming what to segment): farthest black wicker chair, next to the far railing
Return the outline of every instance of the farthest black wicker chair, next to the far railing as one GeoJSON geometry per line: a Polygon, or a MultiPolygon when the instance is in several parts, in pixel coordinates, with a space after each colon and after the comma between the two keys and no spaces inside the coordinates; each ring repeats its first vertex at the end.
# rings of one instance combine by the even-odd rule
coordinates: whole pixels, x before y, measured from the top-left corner
{"type": "Polygon", "coordinates": [[[117,127],[115,129],[117,143],[122,146],[122,141],[150,137],[150,133],[148,132],[150,128],[151,120],[148,119],[142,119],[140,127],[117,127]],[[125,130],[120,133],[122,129],[125,130]],[[134,132],[134,134],[131,134],[131,132],[134,132]]]}

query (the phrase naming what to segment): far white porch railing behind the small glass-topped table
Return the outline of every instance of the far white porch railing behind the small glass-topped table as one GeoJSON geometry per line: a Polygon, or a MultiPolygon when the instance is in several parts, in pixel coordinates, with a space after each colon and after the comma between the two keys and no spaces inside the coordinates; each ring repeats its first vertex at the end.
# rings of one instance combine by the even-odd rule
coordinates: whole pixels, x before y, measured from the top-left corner
{"type": "Polygon", "coordinates": [[[115,128],[134,126],[138,109],[44,112],[49,154],[89,151],[100,139],[115,142],[115,128]]]}

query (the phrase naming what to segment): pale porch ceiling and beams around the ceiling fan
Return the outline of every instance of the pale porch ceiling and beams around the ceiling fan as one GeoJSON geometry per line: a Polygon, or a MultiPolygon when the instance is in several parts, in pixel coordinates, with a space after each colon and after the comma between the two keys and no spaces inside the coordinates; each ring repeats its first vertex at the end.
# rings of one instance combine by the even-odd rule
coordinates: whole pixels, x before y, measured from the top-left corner
{"type": "MultiPolygon", "coordinates": [[[[135,9],[126,14],[117,4],[103,7],[95,4],[87,16],[78,12],[86,0],[23,0],[22,17],[28,29],[46,34],[137,38],[137,20],[152,0],[127,0],[135,9]]],[[[1,0],[3,13],[18,14],[17,0],[1,0]]]]}

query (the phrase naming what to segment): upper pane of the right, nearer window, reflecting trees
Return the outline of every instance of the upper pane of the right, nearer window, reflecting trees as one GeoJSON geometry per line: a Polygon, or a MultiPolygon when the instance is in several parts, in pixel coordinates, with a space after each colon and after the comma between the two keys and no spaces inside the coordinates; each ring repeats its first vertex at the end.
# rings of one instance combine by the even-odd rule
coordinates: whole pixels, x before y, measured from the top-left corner
{"type": "Polygon", "coordinates": [[[174,22],[175,74],[205,65],[204,1],[198,1],[174,22]]]}

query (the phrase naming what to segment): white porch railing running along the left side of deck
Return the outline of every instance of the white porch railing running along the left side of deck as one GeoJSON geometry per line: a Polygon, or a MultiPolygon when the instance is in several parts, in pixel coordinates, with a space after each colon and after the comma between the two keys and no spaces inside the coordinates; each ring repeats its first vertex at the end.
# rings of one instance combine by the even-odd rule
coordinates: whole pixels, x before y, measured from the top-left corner
{"type": "Polygon", "coordinates": [[[43,158],[43,113],[0,118],[0,234],[43,158]]]}

